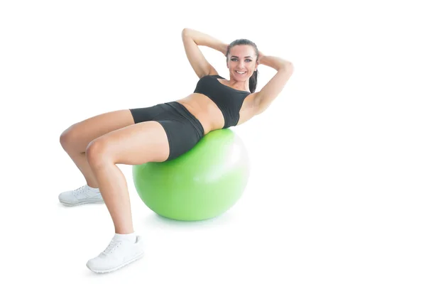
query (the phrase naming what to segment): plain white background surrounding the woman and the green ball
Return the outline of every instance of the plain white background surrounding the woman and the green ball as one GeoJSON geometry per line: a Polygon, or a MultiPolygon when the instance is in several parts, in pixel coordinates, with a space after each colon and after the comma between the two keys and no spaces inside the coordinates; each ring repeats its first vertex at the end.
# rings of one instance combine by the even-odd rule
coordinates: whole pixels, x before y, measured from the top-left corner
{"type": "MultiPolygon", "coordinates": [[[[2,1],[0,282],[425,283],[424,14],[420,1],[2,1]],[[190,94],[186,27],[249,38],[295,72],[233,128],[252,172],[221,217],[157,217],[119,165],[146,256],[97,275],[85,263],[114,227],[103,204],[59,204],[84,184],[60,133],[190,94]]],[[[259,72],[258,90],[275,70],[259,72]]]]}

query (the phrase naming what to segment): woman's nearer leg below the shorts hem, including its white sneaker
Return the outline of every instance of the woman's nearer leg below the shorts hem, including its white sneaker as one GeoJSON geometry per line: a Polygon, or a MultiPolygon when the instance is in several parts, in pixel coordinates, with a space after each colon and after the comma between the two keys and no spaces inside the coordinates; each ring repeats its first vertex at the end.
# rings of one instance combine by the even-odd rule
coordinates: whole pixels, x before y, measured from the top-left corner
{"type": "Polygon", "coordinates": [[[87,261],[97,273],[114,271],[143,256],[133,222],[126,178],[116,164],[139,165],[168,159],[168,136],[157,121],[146,121],[111,131],[89,143],[87,160],[114,223],[115,235],[99,256],[87,261]]]}

